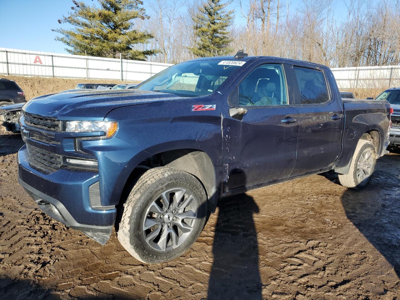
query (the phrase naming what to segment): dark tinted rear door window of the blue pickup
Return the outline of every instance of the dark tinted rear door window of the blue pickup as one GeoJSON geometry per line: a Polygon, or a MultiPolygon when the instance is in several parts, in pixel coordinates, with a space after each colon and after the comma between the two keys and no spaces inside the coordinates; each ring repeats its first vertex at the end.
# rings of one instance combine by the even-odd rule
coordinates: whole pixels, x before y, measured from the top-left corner
{"type": "Polygon", "coordinates": [[[294,66],[301,104],[322,104],[330,100],[324,72],[294,66]]]}

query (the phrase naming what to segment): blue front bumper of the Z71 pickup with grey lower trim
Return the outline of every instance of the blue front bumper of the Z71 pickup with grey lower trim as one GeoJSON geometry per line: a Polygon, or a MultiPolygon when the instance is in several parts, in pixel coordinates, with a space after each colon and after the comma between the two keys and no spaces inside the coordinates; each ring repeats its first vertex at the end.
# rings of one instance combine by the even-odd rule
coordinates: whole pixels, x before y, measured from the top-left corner
{"type": "Polygon", "coordinates": [[[98,180],[98,174],[79,170],[40,173],[29,164],[26,145],[18,152],[18,181],[36,204],[52,218],[104,245],[112,232],[116,208],[91,206],[90,187],[98,180]]]}

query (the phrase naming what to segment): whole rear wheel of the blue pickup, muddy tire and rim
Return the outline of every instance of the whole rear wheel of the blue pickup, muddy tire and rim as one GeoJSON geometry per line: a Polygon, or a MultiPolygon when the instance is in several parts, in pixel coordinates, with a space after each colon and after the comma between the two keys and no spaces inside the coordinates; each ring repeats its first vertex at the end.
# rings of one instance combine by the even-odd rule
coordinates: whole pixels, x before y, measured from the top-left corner
{"type": "Polygon", "coordinates": [[[374,145],[368,140],[360,140],[350,163],[348,174],[338,176],[340,184],[347,188],[364,188],[371,180],[375,165],[374,145]]]}

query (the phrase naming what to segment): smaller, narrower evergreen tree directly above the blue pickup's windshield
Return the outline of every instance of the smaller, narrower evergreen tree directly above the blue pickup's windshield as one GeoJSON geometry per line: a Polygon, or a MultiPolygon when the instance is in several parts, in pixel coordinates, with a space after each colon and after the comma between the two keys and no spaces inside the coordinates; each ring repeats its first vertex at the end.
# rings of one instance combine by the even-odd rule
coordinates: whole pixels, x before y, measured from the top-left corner
{"type": "Polygon", "coordinates": [[[198,38],[195,46],[189,50],[199,57],[226,55],[232,52],[228,44],[232,38],[227,31],[233,20],[233,10],[226,11],[228,3],[220,0],[207,0],[198,7],[198,12],[192,16],[194,34],[198,38]]]}

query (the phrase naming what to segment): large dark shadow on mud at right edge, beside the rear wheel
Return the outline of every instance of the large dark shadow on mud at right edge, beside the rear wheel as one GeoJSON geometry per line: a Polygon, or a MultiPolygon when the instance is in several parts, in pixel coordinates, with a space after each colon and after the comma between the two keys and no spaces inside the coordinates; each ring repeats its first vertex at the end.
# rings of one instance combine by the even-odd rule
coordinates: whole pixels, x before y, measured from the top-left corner
{"type": "Polygon", "coordinates": [[[362,190],[347,189],[341,200],[347,218],[400,278],[400,156],[380,160],[370,184],[362,190]]]}

